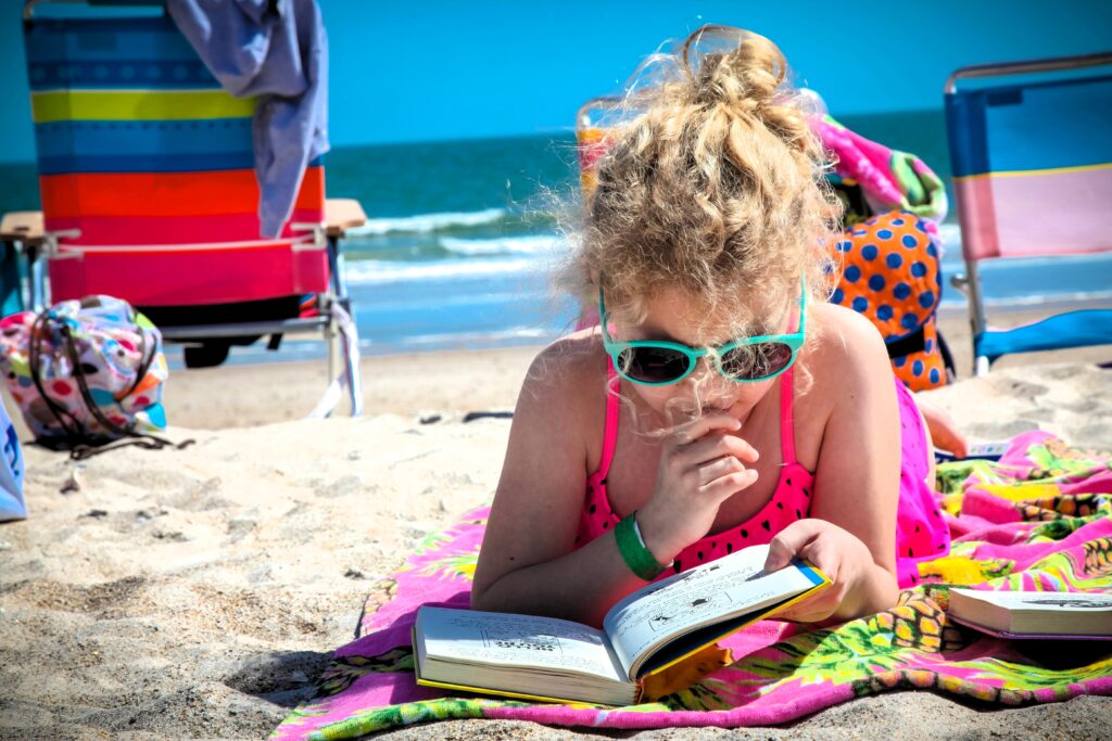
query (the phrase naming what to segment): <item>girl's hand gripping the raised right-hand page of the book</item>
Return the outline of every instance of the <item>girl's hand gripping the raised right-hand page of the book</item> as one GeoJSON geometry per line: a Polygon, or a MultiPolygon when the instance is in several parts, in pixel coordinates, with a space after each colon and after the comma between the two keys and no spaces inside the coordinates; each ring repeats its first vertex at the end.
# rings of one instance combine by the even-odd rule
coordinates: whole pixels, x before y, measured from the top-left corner
{"type": "MultiPolygon", "coordinates": [[[[860,591],[874,569],[873,554],[851,532],[825,520],[797,520],[772,539],[765,571],[777,571],[793,558],[806,559],[831,580],[831,585],[776,615],[796,622],[821,622],[838,612],[846,598],[860,591]]],[[[843,610],[843,612],[845,612],[843,610]]]]}

